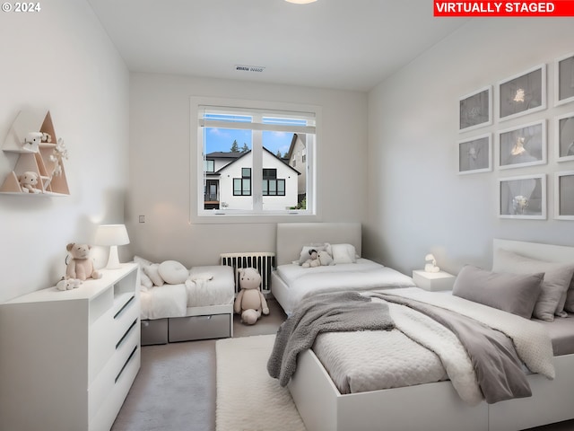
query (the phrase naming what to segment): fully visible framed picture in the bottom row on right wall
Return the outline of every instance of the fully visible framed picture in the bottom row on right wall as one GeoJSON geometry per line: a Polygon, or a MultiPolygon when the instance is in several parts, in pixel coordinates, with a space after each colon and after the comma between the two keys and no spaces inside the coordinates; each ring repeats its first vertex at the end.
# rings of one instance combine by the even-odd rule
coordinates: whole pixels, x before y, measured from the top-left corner
{"type": "Polygon", "coordinates": [[[546,219],[546,176],[499,179],[499,217],[546,219]]]}

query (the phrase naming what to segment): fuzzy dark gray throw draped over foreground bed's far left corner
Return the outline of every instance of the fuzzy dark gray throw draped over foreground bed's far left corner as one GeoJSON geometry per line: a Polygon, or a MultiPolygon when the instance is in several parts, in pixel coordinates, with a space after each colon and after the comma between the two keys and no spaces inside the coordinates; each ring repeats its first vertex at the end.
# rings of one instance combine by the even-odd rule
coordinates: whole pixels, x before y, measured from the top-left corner
{"type": "Polygon", "coordinates": [[[392,330],[387,303],[371,302],[357,292],[306,297],[277,330],[267,372],[285,386],[297,367],[297,356],[313,346],[321,332],[392,330]]]}

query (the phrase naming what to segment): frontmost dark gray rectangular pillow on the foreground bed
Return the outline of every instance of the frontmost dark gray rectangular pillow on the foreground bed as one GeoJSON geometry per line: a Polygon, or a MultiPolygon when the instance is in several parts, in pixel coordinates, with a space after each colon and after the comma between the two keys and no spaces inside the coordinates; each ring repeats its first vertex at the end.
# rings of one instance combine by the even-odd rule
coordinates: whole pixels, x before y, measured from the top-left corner
{"type": "Polygon", "coordinates": [[[496,273],[466,265],[458,273],[452,295],[530,319],[543,277],[543,273],[496,273]]]}

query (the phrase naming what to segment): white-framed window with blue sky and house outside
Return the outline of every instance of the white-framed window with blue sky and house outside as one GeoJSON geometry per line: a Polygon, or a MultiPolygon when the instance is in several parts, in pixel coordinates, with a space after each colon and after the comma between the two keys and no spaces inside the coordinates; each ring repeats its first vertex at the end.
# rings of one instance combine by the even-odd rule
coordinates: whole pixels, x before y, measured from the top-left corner
{"type": "Polygon", "coordinates": [[[300,154],[315,154],[317,108],[207,101],[192,98],[197,215],[315,215],[315,161],[300,154]]]}

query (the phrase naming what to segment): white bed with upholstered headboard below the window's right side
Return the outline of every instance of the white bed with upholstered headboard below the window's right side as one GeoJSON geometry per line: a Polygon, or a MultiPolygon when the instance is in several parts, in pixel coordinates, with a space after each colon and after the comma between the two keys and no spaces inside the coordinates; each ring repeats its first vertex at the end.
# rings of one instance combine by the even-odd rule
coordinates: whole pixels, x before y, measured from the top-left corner
{"type": "Polygon", "coordinates": [[[271,292],[287,315],[309,292],[416,286],[413,278],[361,258],[360,223],[280,223],[276,234],[277,267],[271,276],[271,292]],[[299,262],[303,247],[325,243],[350,244],[358,257],[354,263],[316,268],[294,263],[299,262]]]}

